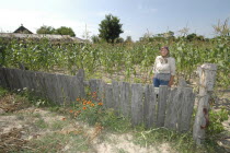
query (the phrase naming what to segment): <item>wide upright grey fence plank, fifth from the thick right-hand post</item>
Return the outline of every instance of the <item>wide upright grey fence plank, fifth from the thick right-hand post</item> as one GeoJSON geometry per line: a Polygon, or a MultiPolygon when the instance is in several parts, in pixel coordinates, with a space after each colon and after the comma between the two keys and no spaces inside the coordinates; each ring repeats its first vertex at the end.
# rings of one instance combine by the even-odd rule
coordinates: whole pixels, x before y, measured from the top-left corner
{"type": "Polygon", "coordinates": [[[143,89],[142,84],[131,84],[131,123],[137,126],[143,122],[143,89]]]}

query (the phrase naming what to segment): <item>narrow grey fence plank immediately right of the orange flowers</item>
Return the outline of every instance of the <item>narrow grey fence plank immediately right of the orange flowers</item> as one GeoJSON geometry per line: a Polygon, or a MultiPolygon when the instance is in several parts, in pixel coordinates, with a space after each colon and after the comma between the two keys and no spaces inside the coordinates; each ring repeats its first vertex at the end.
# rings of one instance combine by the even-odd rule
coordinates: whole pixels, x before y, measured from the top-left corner
{"type": "Polygon", "coordinates": [[[114,108],[112,84],[105,84],[105,107],[114,108]]]}

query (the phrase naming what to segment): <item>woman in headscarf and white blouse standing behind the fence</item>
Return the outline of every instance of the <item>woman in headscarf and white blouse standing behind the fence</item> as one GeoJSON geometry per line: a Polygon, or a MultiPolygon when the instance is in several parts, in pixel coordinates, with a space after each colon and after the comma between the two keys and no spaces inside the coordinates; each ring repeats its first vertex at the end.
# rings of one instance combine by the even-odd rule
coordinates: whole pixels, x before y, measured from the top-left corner
{"type": "Polygon", "coordinates": [[[164,46],[160,49],[161,56],[158,56],[153,66],[153,85],[159,87],[160,85],[173,84],[175,75],[175,59],[170,57],[169,47],[164,46]]]}

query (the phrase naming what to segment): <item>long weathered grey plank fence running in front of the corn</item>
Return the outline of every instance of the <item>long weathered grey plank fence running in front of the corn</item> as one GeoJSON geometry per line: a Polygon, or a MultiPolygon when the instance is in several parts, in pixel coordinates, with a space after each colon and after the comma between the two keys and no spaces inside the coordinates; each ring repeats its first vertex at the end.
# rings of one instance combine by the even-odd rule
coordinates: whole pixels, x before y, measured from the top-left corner
{"type": "Polygon", "coordinates": [[[26,87],[58,104],[84,97],[89,86],[106,108],[129,117],[134,126],[145,123],[148,128],[165,127],[177,131],[192,129],[195,94],[191,87],[160,86],[157,96],[151,84],[84,81],[83,70],[70,76],[8,68],[0,68],[0,85],[11,90],[26,87]]]}

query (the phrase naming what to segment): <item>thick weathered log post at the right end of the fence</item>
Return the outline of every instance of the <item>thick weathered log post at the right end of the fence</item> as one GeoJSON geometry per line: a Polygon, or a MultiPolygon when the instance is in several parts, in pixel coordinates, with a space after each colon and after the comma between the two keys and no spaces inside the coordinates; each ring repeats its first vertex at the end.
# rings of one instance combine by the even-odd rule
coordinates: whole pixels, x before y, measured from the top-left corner
{"type": "Polygon", "coordinates": [[[193,139],[196,144],[200,145],[205,139],[205,129],[207,128],[209,97],[214,90],[217,66],[214,63],[204,63],[198,68],[199,74],[199,98],[198,109],[193,127],[193,139]]]}

